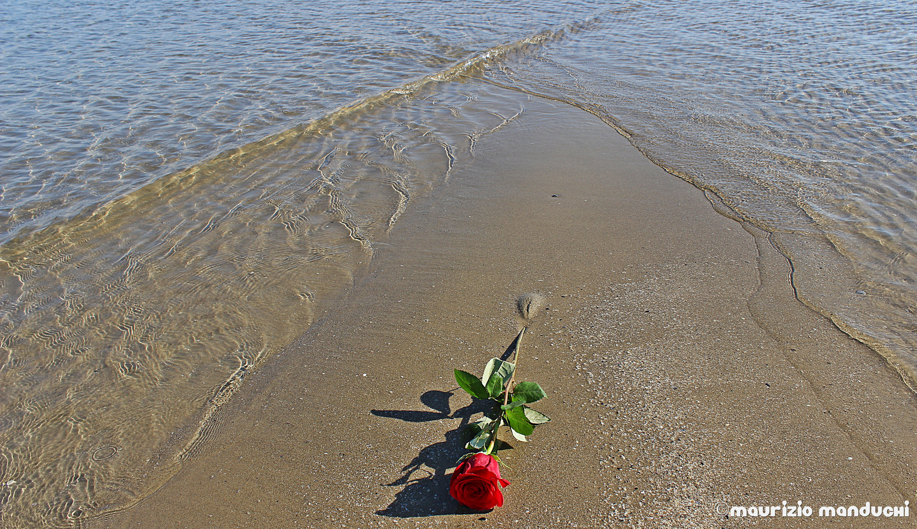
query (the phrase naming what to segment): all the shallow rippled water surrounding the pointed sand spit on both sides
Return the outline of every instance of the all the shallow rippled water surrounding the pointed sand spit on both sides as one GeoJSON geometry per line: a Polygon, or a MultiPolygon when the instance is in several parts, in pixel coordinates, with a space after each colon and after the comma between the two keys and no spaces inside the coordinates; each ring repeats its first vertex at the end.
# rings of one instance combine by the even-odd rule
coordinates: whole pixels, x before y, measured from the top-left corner
{"type": "Polygon", "coordinates": [[[917,372],[917,6],[498,8],[0,7],[5,526],[155,490],[532,94],[766,229],[803,302],[917,372]]]}

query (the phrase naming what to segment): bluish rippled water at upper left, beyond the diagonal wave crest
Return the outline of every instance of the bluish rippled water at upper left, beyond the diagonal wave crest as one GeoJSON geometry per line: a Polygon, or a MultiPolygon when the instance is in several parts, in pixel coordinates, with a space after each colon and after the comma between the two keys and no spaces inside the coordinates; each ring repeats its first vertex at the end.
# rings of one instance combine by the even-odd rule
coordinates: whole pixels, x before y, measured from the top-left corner
{"type": "Polygon", "coordinates": [[[0,243],[597,4],[0,5],[0,243]]]}

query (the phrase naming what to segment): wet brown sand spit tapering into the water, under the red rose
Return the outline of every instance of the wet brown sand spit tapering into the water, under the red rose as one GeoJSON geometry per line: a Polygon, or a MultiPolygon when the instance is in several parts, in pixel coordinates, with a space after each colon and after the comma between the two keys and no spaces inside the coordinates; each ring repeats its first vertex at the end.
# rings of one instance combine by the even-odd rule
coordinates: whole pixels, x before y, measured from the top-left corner
{"type": "Polygon", "coordinates": [[[798,526],[915,500],[917,400],[795,299],[766,234],[566,105],[531,101],[476,157],[249,373],[174,478],[82,527],[798,526]],[[523,292],[547,308],[519,374],[553,421],[507,439],[505,505],[468,512],[447,484],[480,408],[452,369],[503,353],[523,292]],[[722,515],[781,501],[816,514],[722,515]]]}

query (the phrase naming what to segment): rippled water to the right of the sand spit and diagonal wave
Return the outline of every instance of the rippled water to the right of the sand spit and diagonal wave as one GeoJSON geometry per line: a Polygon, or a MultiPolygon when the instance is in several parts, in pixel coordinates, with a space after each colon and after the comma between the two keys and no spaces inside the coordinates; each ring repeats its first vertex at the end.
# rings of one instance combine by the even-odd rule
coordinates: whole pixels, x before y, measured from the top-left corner
{"type": "Polygon", "coordinates": [[[487,77],[601,116],[767,229],[801,301],[917,390],[917,6],[637,6],[487,77]]]}

